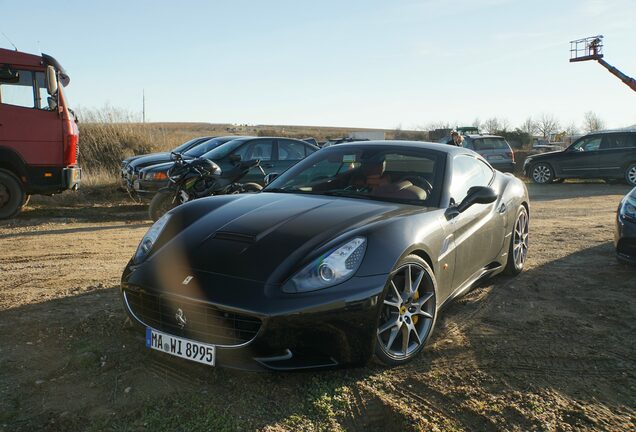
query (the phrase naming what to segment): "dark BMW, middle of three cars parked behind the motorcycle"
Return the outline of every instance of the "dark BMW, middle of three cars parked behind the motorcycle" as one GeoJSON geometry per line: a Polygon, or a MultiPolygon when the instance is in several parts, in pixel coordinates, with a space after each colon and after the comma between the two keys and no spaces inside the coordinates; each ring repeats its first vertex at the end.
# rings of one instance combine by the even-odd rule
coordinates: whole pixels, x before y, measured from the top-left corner
{"type": "MultiPolygon", "coordinates": [[[[201,157],[209,151],[242,136],[228,135],[204,140],[188,151],[179,153],[183,159],[190,160],[201,157]]],[[[151,198],[159,189],[168,186],[168,170],[174,165],[174,158],[169,155],[167,161],[144,166],[133,173],[129,182],[129,190],[139,198],[151,198]]]]}

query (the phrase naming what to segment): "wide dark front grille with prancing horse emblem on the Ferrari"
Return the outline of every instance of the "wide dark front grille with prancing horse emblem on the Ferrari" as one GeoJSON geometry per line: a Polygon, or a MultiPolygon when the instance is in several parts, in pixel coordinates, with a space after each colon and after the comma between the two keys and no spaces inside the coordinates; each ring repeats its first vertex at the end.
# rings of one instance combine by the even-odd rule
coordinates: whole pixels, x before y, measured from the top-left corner
{"type": "Polygon", "coordinates": [[[125,290],[130,311],[145,325],[199,342],[217,345],[241,345],[256,336],[261,320],[228,312],[207,303],[169,294],[151,294],[125,290]],[[183,328],[177,323],[177,311],[186,318],[183,328]]]}

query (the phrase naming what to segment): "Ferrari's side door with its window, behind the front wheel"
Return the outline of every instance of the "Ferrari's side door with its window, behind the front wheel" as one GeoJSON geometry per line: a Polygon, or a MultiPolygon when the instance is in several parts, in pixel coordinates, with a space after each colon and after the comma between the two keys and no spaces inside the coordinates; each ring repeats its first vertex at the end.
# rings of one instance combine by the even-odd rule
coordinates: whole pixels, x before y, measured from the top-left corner
{"type": "MultiPolygon", "coordinates": [[[[481,159],[471,155],[457,155],[453,159],[451,204],[461,202],[473,186],[489,186],[494,171],[481,159]]],[[[479,269],[491,263],[499,252],[501,237],[497,230],[501,221],[495,210],[496,202],[475,204],[448,221],[455,244],[453,289],[458,288],[479,269]]]]}

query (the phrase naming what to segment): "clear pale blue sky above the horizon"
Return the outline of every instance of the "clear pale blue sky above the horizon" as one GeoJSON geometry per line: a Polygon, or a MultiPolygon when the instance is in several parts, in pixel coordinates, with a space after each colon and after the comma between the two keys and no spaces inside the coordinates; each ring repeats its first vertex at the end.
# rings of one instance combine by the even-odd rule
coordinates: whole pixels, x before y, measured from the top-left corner
{"type": "MultiPolygon", "coordinates": [[[[56,57],[74,106],[151,121],[403,128],[555,115],[636,123],[636,0],[0,0],[0,31],[56,57]]],[[[10,48],[0,36],[0,47],[10,48]]]]}

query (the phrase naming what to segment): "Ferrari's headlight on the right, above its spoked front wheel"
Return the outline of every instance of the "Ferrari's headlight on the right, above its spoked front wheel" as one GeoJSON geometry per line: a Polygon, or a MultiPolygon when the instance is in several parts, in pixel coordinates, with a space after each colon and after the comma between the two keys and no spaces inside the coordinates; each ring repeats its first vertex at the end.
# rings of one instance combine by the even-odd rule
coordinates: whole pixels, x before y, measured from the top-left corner
{"type": "Polygon", "coordinates": [[[367,240],[356,237],[330,250],[299,271],[285,284],[283,291],[315,291],[346,281],[360,267],[366,247],[367,240]]]}

